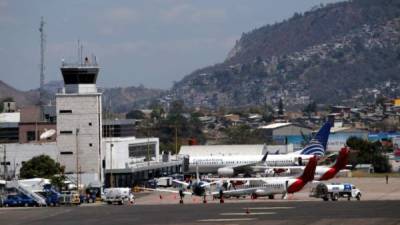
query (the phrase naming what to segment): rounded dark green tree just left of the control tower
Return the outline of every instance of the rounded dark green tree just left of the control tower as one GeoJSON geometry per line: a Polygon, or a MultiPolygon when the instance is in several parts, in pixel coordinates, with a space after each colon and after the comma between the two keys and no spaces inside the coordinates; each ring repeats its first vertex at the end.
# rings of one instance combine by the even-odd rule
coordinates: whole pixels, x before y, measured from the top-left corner
{"type": "Polygon", "coordinates": [[[63,173],[63,168],[48,155],[35,156],[25,162],[20,170],[20,177],[29,178],[47,178],[52,179],[56,175],[63,173]]]}

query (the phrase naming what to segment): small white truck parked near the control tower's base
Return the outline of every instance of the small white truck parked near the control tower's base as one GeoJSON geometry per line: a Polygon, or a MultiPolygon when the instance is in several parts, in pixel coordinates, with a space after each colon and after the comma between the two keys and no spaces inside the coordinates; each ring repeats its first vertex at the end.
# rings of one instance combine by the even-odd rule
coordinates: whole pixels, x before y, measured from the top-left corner
{"type": "Polygon", "coordinates": [[[113,203],[122,205],[125,202],[133,204],[135,196],[130,188],[106,188],[104,189],[104,201],[109,205],[113,203]]]}

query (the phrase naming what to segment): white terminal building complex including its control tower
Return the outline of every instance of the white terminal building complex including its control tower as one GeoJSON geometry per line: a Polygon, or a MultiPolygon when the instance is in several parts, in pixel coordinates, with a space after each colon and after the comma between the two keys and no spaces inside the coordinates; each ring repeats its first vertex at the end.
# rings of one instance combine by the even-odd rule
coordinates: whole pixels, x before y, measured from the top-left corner
{"type": "Polygon", "coordinates": [[[41,154],[64,166],[67,179],[80,186],[133,187],[156,176],[181,172],[182,160],[160,157],[159,139],[136,138],[132,121],[106,121],[103,126],[102,93],[96,86],[99,70],[87,58],[79,64],[62,64],[64,88],[56,94],[56,123],[46,125],[39,118],[33,124],[22,123],[16,112],[12,121],[4,119],[2,131],[7,134],[3,139],[12,143],[1,148],[2,175],[18,177],[22,164],[41,154]],[[47,128],[55,130],[55,135],[39,139],[47,128]]]}

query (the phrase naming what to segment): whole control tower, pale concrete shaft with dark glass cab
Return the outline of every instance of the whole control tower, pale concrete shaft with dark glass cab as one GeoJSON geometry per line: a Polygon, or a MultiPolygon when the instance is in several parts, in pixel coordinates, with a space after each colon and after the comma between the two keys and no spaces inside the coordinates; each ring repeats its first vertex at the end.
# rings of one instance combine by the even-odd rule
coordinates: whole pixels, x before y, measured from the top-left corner
{"type": "Polygon", "coordinates": [[[96,80],[95,60],[62,63],[64,88],[56,94],[57,148],[65,173],[79,184],[102,183],[101,93],[96,80]]]}

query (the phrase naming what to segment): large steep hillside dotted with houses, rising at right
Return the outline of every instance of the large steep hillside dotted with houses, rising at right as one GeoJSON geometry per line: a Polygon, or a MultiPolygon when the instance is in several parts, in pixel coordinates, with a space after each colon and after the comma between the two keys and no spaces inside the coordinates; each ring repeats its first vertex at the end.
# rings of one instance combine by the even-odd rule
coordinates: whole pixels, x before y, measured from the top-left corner
{"type": "Polygon", "coordinates": [[[225,61],[194,71],[172,90],[191,106],[210,108],[280,99],[294,108],[357,103],[373,100],[374,89],[396,96],[399,18],[398,0],[339,2],[295,14],[244,33],[225,61]]]}

